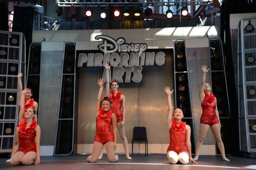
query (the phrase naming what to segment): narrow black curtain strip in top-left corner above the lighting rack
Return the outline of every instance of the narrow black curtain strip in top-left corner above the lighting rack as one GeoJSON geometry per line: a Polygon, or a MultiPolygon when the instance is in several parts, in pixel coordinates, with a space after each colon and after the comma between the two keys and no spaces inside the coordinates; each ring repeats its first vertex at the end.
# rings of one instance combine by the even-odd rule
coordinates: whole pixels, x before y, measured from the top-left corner
{"type": "Polygon", "coordinates": [[[0,0],[0,30],[8,31],[8,0],[0,0]]]}

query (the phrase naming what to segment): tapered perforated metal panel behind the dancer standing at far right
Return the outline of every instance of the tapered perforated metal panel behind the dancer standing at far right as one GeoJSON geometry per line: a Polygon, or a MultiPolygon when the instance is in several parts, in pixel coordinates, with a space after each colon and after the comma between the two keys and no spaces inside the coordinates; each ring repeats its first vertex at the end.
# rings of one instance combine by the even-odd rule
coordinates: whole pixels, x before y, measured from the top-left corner
{"type": "MultiPolygon", "coordinates": [[[[188,59],[188,72],[189,72],[189,82],[191,91],[191,102],[192,110],[195,124],[195,134],[196,140],[199,136],[200,131],[200,118],[202,115],[201,102],[199,99],[199,89],[201,86],[202,71],[201,66],[207,65],[210,68],[210,58],[209,58],[209,48],[186,48],[187,59],[188,59]]],[[[211,73],[207,73],[206,82],[212,86],[211,83],[211,73]]],[[[212,131],[208,130],[203,144],[215,144],[215,139],[212,131]]]]}

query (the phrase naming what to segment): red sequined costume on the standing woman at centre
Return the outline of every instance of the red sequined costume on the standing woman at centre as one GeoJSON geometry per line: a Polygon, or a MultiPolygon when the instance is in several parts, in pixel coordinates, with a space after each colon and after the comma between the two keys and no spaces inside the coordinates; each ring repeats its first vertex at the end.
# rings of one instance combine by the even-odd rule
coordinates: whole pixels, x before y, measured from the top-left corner
{"type": "Polygon", "coordinates": [[[113,91],[110,91],[110,99],[112,102],[111,109],[116,114],[117,123],[122,122],[122,93],[118,91],[115,95],[113,91]]]}

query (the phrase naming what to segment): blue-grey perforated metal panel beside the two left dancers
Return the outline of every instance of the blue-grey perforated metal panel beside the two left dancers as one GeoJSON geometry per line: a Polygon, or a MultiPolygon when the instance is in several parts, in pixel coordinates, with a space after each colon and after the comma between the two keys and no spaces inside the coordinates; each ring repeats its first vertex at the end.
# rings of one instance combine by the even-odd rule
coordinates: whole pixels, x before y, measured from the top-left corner
{"type": "Polygon", "coordinates": [[[54,145],[61,92],[63,51],[42,51],[38,124],[41,145],[54,145]]]}

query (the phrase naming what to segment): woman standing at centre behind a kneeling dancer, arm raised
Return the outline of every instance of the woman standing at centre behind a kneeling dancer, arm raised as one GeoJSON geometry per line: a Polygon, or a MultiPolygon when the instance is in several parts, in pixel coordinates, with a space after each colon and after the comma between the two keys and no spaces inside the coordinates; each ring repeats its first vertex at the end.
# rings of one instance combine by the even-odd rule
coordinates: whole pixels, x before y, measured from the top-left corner
{"type": "MultiPolygon", "coordinates": [[[[116,127],[119,131],[120,138],[122,139],[122,144],[125,149],[126,159],[131,159],[131,156],[129,155],[128,142],[125,136],[125,96],[122,95],[121,91],[118,91],[119,85],[117,80],[113,80],[111,82],[112,91],[109,91],[110,65],[108,63],[105,63],[104,67],[106,71],[106,93],[107,93],[107,96],[109,96],[111,99],[112,111],[113,113],[116,114],[116,118],[117,118],[116,127]]],[[[102,154],[103,152],[99,156],[99,159],[102,158],[102,154]]]]}

